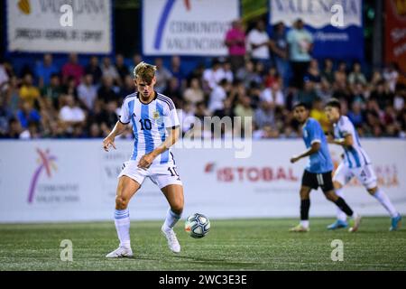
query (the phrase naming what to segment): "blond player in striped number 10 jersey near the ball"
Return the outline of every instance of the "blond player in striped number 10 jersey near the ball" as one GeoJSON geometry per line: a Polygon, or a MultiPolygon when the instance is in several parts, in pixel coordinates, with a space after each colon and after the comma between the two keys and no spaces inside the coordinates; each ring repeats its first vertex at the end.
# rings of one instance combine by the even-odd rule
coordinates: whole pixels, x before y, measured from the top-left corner
{"type": "Polygon", "coordinates": [[[180,252],[180,244],[173,227],[183,210],[183,186],[171,153],[171,145],[180,135],[180,122],[171,98],[157,93],[156,67],[145,62],[134,69],[137,92],[127,96],[121,107],[121,115],[113,131],[104,139],[108,152],[115,148],[115,136],[122,134],[129,124],[133,126],[134,150],[118,175],[115,198],[115,228],[120,245],[106,257],[133,256],[130,246],[130,214],[128,203],[149,177],[163,192],[170,208],[161,227],[168,246],[174,253],[180,252]]]}

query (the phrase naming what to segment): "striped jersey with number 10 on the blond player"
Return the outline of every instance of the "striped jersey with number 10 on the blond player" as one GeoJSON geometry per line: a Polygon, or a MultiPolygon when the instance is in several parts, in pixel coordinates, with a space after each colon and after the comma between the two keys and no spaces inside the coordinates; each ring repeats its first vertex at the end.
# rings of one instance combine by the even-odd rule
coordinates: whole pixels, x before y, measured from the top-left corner
{"type": "MultiPolygon", "coordinates": [[[[134,150],[131,160],[139,161],[144,154],[151,153],[167,137],[167,129],[180,126],[176,107],[171,98],[155,91],[155,98],[143,104],[138,92],[127,96],[118,117],[123,124],[131,123],[134,133],[134,150]]],[[[158,155],[152,164],[174,163],[171,149],[158,155]]]]}

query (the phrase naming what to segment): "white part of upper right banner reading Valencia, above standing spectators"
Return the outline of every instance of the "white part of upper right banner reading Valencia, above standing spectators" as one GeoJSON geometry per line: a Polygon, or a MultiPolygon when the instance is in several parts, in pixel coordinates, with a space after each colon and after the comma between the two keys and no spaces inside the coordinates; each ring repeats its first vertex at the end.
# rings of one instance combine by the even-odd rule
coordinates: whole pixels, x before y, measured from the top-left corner
{"type": "Polygon", "coordinates": [[[334,15],[343,15],[343,26],[362,27],[362,0],[270,0],[271,24],[283,22],[290,26],[301,18],[313,28],[331,25],[334,15]]]}

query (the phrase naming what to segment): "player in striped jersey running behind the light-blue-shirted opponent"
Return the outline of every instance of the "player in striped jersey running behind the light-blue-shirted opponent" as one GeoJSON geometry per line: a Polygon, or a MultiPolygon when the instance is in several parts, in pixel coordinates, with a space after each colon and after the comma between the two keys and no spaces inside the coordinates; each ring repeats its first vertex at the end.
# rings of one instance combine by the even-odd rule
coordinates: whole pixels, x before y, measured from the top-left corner
{"type": "MultiPolygon", "coordinates": [[[[348,117],[341,115],[341,105],[337,99],[329,100],[325,110],[329,122],[334,126],[334,136],[328,135],[328,142],[343,146],[345,153],[344,160],[338,165],[333,177],[337,195],[343,196],[343,186],[352,178],[357,178],[365,189],[389,212],[391,216],[390,230],[396,230],[401,226],[401,215],[395,210],[386,193],[378,187],[371,159],[361,146],[355,126],[348,117]]],[[[328,228],[343,227],[346,227],[346,216],[341,210],[338,210],[337,221],[328,228]]]]}

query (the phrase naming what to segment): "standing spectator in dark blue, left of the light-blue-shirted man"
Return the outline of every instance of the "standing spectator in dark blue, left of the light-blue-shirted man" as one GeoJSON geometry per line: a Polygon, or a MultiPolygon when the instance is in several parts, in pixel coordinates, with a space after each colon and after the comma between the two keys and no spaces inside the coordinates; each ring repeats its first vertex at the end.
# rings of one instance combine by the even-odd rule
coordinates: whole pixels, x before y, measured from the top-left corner
{"type": "Polygon", "coordinates": [[[290,63],[289,63],[289,45],[286,39],[284,23],[276,23],[273,28],[273,35],[270,41],[270,47],[273,53],[273,61],[277,72],[281,75],[282,88],[289,86],[290,63]]]}

